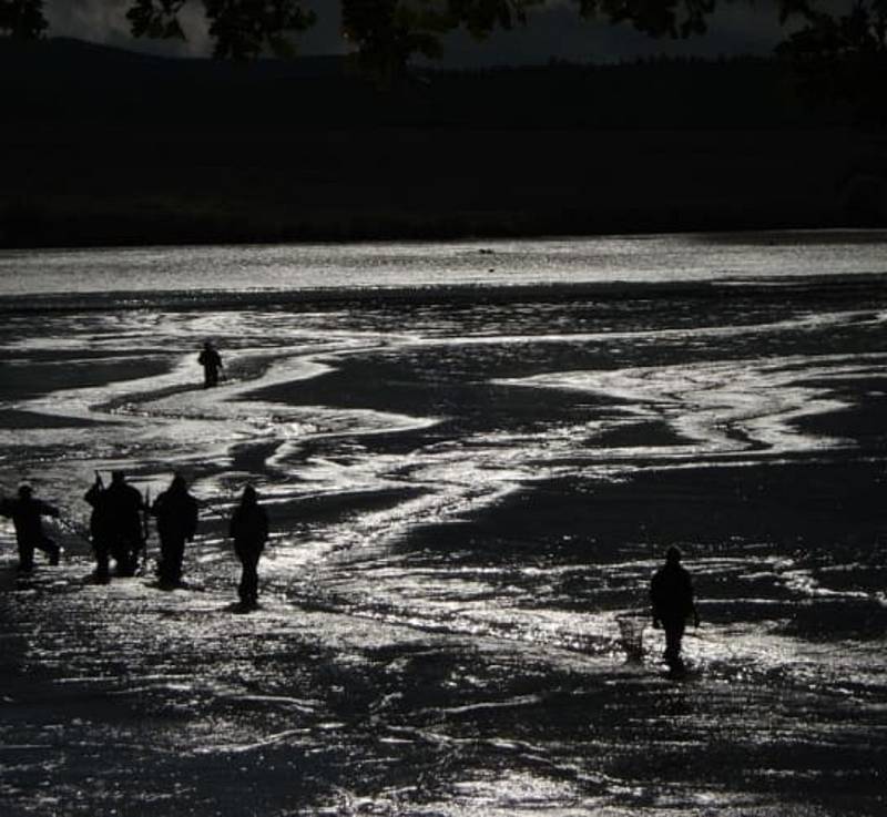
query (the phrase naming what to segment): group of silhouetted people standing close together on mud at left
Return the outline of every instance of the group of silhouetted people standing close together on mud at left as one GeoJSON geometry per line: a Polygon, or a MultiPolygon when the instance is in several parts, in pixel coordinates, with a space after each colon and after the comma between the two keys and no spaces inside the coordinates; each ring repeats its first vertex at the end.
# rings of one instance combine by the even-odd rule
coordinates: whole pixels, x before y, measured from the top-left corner
{"type": "MultiPolygon", "coordinates": [[[[181,584],[185,543],[194,539],[200,515],[198,502],[190,493],[182,474],[175,474],[170,487],[149,504],[140,491],[126,482],[122,471],[112,472],[109,486],[96,473],[83,499],[92,508],[89,539],[98,581],[110,580],[112,561],[116,575],[135,574],[145,553],[147,520],[154,517],[160,539],[159,583],[163,588],[181,584]]],[[[20,571],[33,570],[35,550],[47,553],[51,565],[59,563],[61,549],[47,535],[42,521],[43,517],[59,518],[58,508],[37,499],[31,487],[23,484],[16,498],[0,501],[0,515],[13,521],[20,571]]],[[[257,569],[268,539],[268,518],[252,486],[246,486],[234,509],[228,535],[234,540],[234,552],[242,565],[241,603],[244,607],[254,607],[258,602],[257,569]]]]}

